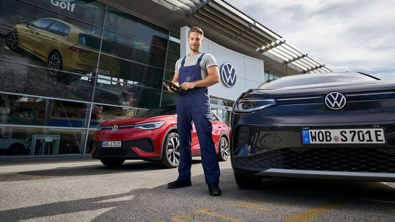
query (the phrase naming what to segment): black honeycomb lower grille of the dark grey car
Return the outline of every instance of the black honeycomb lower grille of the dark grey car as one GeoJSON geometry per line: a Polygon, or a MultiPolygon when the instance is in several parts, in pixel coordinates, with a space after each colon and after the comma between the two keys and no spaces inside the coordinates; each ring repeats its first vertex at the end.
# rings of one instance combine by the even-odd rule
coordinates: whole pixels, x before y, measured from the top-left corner
{"type": "Polygon", "coordinates": [[[281,148],[235,161],[260,168],[395,173],[395,148],[281,148]]]}

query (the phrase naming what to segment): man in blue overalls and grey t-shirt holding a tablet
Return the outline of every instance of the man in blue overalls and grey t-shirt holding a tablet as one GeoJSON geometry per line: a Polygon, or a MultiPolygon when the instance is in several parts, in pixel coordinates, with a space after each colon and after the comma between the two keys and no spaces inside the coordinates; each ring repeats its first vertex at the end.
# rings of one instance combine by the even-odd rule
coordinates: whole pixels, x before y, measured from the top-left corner
{"type": "MultiPolygon", "coordinates": [[[[200,51],[203,31],[192,27],[188,32],[190,52],[176,63],[172,82],[185,90],[177,95],[177,129],[180,137],[180,164],[178,179],[169,183],[169,188],[191,186],[192,166],[192,121],[195,124],[200,144],[201,163],[210,195],[221,195],[218,186],[220,169],[212,139],[212,120],[208,86],[219,82],[219,71],[214,57],[200,51]]],[[[166,84],[165,84],[166,85],[166,84]]],[[[171,92],[168,85],[168,91],[171,92]]]]}

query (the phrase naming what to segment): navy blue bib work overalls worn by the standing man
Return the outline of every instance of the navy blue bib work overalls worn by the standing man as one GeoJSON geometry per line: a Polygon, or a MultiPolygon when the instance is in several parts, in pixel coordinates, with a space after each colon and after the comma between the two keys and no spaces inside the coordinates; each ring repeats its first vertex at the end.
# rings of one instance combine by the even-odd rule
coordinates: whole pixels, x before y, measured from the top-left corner
{"type": "MultiPolygon", "coordinates": [[[[185,67],[185,56],[181,62],[178,81],[193,82],[202,79],[200,61],[204,53],[198,58],[197,64],[185,67]]],[[[207,87],[189,89],[186,94],[177,95],[177,128],[180,136],[180,164],[178,179],[191,179],[192,166],[192,120],[195,123],[197,138],[200,144],[201,164],[203,165],[206,184],[218,183],[220,170],[215,152],[214,141],[211,136],[212,119],[207,87]]]]}

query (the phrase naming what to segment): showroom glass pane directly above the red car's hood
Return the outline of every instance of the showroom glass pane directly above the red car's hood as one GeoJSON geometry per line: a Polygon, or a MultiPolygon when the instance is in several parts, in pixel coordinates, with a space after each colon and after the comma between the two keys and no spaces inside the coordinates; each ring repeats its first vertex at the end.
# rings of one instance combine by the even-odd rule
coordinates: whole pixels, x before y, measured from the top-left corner
{"type": "Polygon", "coordinates": [[[93,104],[92,115],[90,116],[90,128],[96,129],[100,123],[109,119],[130,119],[138,111],[144,110],[93,104]]]}

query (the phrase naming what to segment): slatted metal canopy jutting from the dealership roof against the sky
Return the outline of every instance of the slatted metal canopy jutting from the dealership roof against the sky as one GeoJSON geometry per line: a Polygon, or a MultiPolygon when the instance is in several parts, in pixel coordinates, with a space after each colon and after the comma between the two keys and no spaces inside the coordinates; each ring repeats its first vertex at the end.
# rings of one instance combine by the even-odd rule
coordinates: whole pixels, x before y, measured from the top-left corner
{"type": "Polygon", "coordinates": [[[239,11],[224,0],[153,0],[163,6],[171,4],[173,11],[181,9],[185,16],[198,19],[224,31],[230,38],[256,48],[256,52],[280,59],[279,62],[300,73],[332,72],[307,53],[291,45],[278,34],[239,11]],[[300,70],[298,70],[300,69],[300,70]]]}

